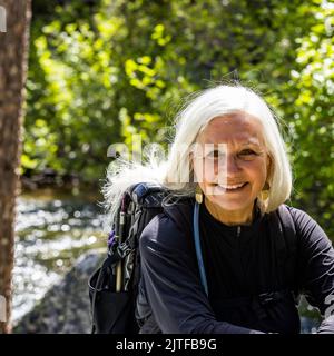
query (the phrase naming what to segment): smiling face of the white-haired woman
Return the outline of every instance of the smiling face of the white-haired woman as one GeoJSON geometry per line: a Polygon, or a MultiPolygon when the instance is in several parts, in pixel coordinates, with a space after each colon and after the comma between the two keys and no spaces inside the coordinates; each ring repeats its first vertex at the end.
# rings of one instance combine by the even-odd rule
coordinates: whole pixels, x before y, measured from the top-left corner
{"type": "Polygon", "coordinates": [[[203,155],[194,154],[194,171],[208,202],[236,219],[252,215],[271,168],[261,121],[243,111],[214,118],[196,145],[203,155]]]}

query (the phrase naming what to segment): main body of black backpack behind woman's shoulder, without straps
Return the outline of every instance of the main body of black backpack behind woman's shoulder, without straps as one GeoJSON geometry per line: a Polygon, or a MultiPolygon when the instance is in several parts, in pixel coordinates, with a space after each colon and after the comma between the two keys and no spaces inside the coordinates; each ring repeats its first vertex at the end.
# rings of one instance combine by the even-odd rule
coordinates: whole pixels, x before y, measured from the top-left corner
{"type": "Polygon", "coordinates": [[[92,333],[137,334],[136,297],[140,279],[138,240],[144,228],[164,211],[167,189],[151,182],[130,186],[118,206],[108,254],[89,278],[92,333]]]}

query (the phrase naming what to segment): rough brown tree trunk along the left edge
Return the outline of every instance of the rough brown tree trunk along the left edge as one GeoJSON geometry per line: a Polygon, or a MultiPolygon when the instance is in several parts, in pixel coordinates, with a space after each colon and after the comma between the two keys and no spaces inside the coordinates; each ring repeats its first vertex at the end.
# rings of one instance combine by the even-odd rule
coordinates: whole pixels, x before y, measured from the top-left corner
{"type": "Polygon", "coordinates": [[[22,105],[27,76],[30,0],[0,0],[0,334],[10,333],[16,198],[19,194],[22,105]],[[4,9],[4,11],[3,11],[4,9]],[[1,19],[0,19],[1,20],[1,19]],[[3,16],[2,16],[3,20],[3,16]],[[2,27],[3,29],[3,27],[2,27]],[[4,314],[1,316],[1,308],[4,314]]]}

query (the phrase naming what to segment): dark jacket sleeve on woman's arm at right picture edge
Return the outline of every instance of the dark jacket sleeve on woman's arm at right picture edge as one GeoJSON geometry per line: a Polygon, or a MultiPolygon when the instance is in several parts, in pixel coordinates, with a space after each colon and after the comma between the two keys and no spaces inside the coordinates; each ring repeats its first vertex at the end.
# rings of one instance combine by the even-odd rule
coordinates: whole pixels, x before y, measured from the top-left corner
{"type": "Polygon", "coordinates": [[[325,317],[317,333],[334,334],[334,249],[331,240],[306,212],[294,209],[301,241],[299,286],[306,300],[325,317]]]}

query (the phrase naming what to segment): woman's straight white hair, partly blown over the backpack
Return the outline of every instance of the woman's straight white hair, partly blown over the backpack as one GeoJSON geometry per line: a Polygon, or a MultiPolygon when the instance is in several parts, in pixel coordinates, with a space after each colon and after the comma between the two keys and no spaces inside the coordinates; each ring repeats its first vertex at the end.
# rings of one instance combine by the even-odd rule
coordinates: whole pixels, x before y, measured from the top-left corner
{"type": "Polygon", "coordinates": [[[219,85],[196,93],[176,116],[176,134],[167,159],[158,160],[151,150],[144,164],[116,159],[109,166],[107,182],[102,188],[105,207],[108,209],[107,224],[110,225],[114,220],[122,192],[140,181],[157,182],[169,189],[171,196],[194,197],[197,184],[194,181],[190,148],[197,135],[212,119],[236,111],[247,112],[261,121],[264,142],[272,158],[272,169],[267,177],[269,195],[265,201],[257,199],[261,209],[263,212],[269,212],[285,202],[292,191],[292,169],[279,131],[278,118],[249,88],[240,85],[219,85]]]}

